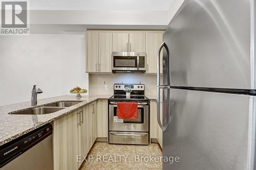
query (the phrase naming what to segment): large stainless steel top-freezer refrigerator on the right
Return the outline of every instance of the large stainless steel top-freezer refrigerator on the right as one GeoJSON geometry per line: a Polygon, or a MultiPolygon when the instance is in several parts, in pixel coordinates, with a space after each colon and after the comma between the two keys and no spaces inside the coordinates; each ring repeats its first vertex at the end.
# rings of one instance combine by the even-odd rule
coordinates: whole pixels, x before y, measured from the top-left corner
{"type": "Polygon", "coordinates": [[[189,0],[170,22],[158,56],[158,122],[163,156],[179,162],[163,169],[255,169],[255,6],[189,0]]]}

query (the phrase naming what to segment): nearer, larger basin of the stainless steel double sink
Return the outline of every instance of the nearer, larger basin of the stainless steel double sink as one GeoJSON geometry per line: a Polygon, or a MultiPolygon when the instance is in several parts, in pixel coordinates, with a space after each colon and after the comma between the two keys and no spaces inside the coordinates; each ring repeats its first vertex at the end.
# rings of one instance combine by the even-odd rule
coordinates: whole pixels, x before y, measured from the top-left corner
{"type": "Polygon", "coordinates": [[[16,113],[10,113],[10,114],[50,114],[65,108],[66,107],[37,107],[37,108],[23,110],[16,113]]]}

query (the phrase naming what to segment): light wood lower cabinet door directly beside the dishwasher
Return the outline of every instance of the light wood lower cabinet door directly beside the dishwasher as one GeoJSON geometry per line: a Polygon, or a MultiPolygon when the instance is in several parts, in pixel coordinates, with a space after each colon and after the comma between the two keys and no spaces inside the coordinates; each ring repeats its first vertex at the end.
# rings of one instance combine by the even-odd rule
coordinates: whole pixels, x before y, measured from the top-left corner
{"type": "Polygon", "coordinates": [[[54,169],[78,169],[79,125],[74,111],[53,122],[53,166],[54,169]]]}

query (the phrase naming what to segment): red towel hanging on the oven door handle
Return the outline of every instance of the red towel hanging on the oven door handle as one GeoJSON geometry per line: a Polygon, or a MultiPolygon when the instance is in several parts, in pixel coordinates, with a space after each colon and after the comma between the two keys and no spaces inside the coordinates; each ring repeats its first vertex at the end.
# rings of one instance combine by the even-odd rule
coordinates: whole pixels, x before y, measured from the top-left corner
{"type": "Polygon", "coordinates": [[[138,103],[117,102],[117,117],[121,119],[137,119],[138,103]]]}

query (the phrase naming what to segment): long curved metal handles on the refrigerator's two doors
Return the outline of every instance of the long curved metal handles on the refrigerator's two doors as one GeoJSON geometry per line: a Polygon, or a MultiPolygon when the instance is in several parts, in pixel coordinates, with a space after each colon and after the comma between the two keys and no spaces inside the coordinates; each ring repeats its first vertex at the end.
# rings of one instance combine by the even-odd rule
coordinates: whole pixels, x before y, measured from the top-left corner
{"type": "MultiPolygon", "coordinates": [[[[158,50],[158,55],[157,55],[157,122],[158,122],[158,125],[160,126],[160,128],[162,129],[162,131],[165,131],[168,124],[166,125],[162,125],[161,123],[161,119],[160,119],[160,89],[169,89],[170,88],[170,85],[160,85],[160,55],[161,55],[161,51],[162,51],[162,48],[165,47],[166,49],[166,52],[167,52],[167,77],[168,79],[170,78],[169,77],[169,50],[168,50],[168,46],[165,42],[163,42],[158,50]]],[[[168,80],[168,83],[170,81],[168,80]]],[[[165,121],[162,121],[162,122],[165,122],[165,121]]]]}

